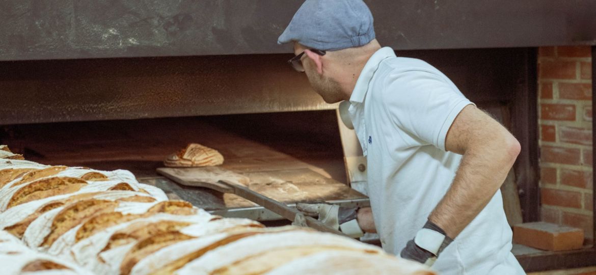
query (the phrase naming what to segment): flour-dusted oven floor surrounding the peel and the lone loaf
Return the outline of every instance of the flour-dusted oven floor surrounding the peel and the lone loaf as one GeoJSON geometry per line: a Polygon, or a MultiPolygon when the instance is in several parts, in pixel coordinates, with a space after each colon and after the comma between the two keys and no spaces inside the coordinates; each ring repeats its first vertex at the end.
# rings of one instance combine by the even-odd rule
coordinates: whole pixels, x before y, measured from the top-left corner
{"type": "MultiPolygon", "coordinates": [[[[314,119],[309,115],[321,115],[302,114],[307,120],[314,119]]],[[[281,120],[290,120],[284,115],[288,116],[278,114],[281,120]]],[[[232,118],[33,124],[15,127],[15,136],[1,141],[23,153],[27,160],[42,164],[131,170],[139,181],[161,187],[170,198],[185,199],[206,210],[256,205],[232,194],[181,186],[156,174],[156,168],[163,167],[164,158],[187,143],[217,149],[225,158],[222,167],[249,176],[252,189],[279,201],[366,198],[344,183],[346,174],[339,132],[337,150],[330,145],[335,142],[329,140],[332,135],[323,133],[324,137],[309,140],[308,136],[312,135],[296,130],[305,126],[266,127],[268,123],[260,119],[262,114],[232,118]]],[[[300,124],[302,120],[294,121],[300,124]]],[[[334,126],[337,131],[337,124],[334,126]]]]}

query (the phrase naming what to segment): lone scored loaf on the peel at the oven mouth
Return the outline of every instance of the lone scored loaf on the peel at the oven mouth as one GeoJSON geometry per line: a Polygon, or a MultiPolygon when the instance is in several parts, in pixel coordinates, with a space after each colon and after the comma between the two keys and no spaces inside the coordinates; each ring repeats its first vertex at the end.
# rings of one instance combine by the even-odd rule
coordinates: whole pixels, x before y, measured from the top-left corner
{"type": "Polygon", "coordinates": [[[224,163],[224,156],[215,149],[198,143],[190,143],[187,148],[169,155],[163,162],[167,167],[204,167],[224,163]]]}

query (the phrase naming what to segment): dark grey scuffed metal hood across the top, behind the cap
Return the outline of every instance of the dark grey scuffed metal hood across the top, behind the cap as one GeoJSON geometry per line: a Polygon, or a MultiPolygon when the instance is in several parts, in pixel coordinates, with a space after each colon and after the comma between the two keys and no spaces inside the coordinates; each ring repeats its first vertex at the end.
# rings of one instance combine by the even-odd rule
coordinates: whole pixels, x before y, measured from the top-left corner
{"type": "MultiPolygon", "coordinates": [[[[395,49],[596,44],[592,0],[369,0],[395,49]]],[[[0,60],[290,52],[277,45],[302,0],[7,0],[0,60]]]]}

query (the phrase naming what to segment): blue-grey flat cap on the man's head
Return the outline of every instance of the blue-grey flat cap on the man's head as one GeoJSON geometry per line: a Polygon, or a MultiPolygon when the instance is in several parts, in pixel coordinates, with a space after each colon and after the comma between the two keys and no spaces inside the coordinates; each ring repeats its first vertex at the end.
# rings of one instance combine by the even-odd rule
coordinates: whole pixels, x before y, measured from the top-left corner
{"type": "Polygon", "coordinates": [[[362,0],[306,0],[277,43],[297,41],[337,51],[367,45],[374,38],[373,15],[362,0]]]}

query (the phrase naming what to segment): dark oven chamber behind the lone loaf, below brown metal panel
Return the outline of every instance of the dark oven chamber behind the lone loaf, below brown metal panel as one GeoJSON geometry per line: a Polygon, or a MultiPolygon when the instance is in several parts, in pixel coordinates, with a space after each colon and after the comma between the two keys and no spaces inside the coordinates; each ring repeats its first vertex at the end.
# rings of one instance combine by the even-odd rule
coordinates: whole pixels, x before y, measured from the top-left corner
{"type": "MultiPolygon", "coordinates": [[[[296,130],[312,128],[310,125],[302,126],[306,121],[335,118],[334,112],[324,114],[254,114],[35,124],[14,129],[14,138],[4,139],[4,136],[13,136],[13,133],[4,135],[0,129],[0,139],[3,144],[10,145],[13,152],[24,153],[27,160],[100,170],[126,169],[137,177],[156,176],[156,168],[163,167],[167,155],[195,142],[218,150],[225,159],[222,167],[229,170],[310,168],[344,182],[339,136],[334,140],[331,133],[325,132],[323,135],[318,131],[317,135],[310,135],[297,133],[296,130]],[[277,120],[293,123],[283,128],[277,120]],[[250,127],[241,127],[245,124],[264,127],[262,124],[254,126],[255,121],[269,122],[275,129],[251,130],[248,129],[250,127]]],[[[332,122],[321,125],[335,129],[337,121],[332,122]]]]}

